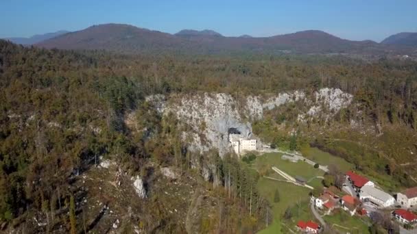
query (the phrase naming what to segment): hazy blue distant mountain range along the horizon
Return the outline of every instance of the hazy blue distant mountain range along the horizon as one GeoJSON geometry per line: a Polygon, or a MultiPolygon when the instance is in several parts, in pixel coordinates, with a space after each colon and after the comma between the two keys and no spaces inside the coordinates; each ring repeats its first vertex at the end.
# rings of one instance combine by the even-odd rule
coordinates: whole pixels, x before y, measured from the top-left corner
{"type": "Polygon", "coordinates": [[[94,25],[80,31],[62,34],[37,47],[58,49],[104,49],[121,53],[348,53],[358,55],[412,54],[409,44],[353,41],[324,31],[307,30],[294,34],[254,38],[243,35],[227,37],[212,30],[184,29],[167,34],[123,24],[94,25]],[[410,52],[411,51],[411,52],[410,52]]]}

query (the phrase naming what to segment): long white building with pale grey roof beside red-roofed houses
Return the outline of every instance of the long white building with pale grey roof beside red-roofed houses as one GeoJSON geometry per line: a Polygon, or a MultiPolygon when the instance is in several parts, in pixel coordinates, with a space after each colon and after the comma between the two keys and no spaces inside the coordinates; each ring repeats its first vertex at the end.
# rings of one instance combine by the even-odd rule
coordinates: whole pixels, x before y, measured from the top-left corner
{"type": "Polygon", "coordinates": [[[381,207],[390,207],[395,202],[394,197],[390,194],[369,185],[361,187],[359,198],[363,201],[369,200],[371,203],[381,207]]]}

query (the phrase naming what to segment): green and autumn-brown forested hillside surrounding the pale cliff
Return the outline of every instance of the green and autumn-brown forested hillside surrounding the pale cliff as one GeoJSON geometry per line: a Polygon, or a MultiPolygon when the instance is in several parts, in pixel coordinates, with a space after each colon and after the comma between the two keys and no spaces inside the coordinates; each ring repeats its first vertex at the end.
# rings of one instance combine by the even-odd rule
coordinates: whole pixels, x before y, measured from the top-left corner
{"type": "Polygon", "coordinates": [[[298,145],[331,151],[358,170],[374,171],[375,176],[395,174],[396,186],[413,183],[408,177],[417,175],[412,166],[416,162],[412,153],[417,152],[417,62],[412,60],[120,55],[28,48],[0,40],[1,229],[103,231],[102,211],[90,209],[91,198],[100,197],[108,202],[103,213],[119,212],[124,219],[117,220],[128,233],[136,228],[149,233],[259,231],[270,209],[254,186],[259,174],[233,155],[221,158],[216,151],[192,155],[178,135],[187,123],[159,114],[145,97],[208,92],[236,99],[266,98],[326,87],[353,94],[352,105],[335,113],[335,118],[318,116],[302,124],[296,120],[302,103],[292,103],[253,122],[254,132],[265,142],[281,144],[289,141],[287,135],[280,138],[268,131],[284,124],[287,129],[282,133],[302,132],[294,140],[298,145]],[[126,116],[132,113],[134,129],[126,125],[126,116]],[[363,140],[371,149],[348,151],[346,145],[353,143],[340,144],[341,138],[363,140]],[[378,146],[377,151],[373,146],[378,146]],[[191,157],[199,162],[191,163],[191,157]],[[130,192],[120,192],[117,185],[103,192],[102,181],[110,175],[96,166],[105,159],[117,163],[114,173],[122,178],[117,179],[119,187],[126,186],[130,192]],[[392,160],[412,164],[403,170],[390,164],[392,160]],[[203,179],[204,165],[213,166],[208,181],[203,179]],[[167,167],[174,168],[176,180],[161,175],[160,168],[167,167]],[[130,198],[134,189],[126,181],[136,176],[144,181],[145,200],[130,198]],[[172,187],[178,190],[167,191],[172,187]]]}

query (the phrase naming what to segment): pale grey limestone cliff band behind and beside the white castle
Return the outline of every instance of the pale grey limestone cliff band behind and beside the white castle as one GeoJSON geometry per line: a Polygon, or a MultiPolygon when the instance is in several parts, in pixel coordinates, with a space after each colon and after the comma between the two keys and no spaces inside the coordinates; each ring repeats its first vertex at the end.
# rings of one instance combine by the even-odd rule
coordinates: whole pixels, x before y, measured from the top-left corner
{"type": "Polygon", "coordinates": [[[178,120],[187,123],[191,131],[182,133],[182,140],[189,144],[189,150],[203,153],[210,148],[217,148],[219,155],[232,151],[228,143],[228,130],[237,129],[242,135],[257,138],[252,134],[251,122],[263,118],[263,112],[286,103],[301,101],[309,109],[300,113],[299,120],[317,116],[324,109],[331,117],[352,102],[353,96],[339,89],[323,88],[308,99],[305,92],[296,90],[262,99],[260,96],[247,96],[235,99],[230,94],[189,94],[176,96],[170,100],[165,96],[149,96],[147,101],[154,103],[158,112],[171,112],[178,120]]]}

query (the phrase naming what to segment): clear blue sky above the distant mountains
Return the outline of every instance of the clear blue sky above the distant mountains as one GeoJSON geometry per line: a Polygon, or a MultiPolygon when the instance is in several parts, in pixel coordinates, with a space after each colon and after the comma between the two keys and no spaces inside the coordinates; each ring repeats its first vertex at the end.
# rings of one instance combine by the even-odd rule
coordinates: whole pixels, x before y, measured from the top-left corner
{"type": "Polygon", "coordinates": [[[225,36],[273,36],[319,29],[350,40],[417,31],[416,0],[0,0],[0,38],[100,23],[168,33],[213,29],[225,36]]]}

